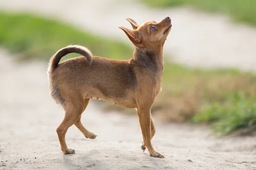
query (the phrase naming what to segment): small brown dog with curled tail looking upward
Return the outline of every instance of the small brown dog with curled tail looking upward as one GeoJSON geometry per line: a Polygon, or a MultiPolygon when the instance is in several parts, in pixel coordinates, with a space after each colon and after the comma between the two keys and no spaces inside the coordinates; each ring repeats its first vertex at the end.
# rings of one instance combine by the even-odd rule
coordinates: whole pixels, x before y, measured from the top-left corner
{"type": "Polygon", "coordinates": [[[65,134],[71,125],[75,124],[86,138],[96,138],[81,124],[81,113],[90,99],[97,98],[125,108],[136,108],[143,135],[141,148],[147,148],[150,156],[164,157],[151,144],[155,134],[151,107],[161,91],[163,45],[172,22],[170,17],[166,17],[159,23],[148,21],[138,26],[134,20],[126,20],[131,23],[133,30],[119,28],[135,45],[133,59],[97,57],[83,46],[69,45],[57,51],[49,61],[50,93],[65,110],[64,119],[56,129],[64,154],[75,153],[65,142],[65,134]],[[69,53],[78,53],[84,57],[58,64],[61,57],[69,53]]]}

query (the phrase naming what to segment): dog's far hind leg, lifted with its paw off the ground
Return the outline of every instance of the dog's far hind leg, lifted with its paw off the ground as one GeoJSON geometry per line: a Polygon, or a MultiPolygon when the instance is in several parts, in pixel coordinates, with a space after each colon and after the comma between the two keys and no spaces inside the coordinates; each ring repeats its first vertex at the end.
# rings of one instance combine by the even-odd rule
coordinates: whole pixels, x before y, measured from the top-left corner
{"type": "MultiPolygon", "coordinates": [[[[83,108],[83,112],[86,109],[88,103],[90,102],[90,99],[85,99],[84,100],[84,108],[83,108]]],[[[79,118],[76,120],[75,122],[76,127],[81,131],[81,133],[84,134],[84,136],[86,138],[90,138],[90,139],[95,139],[96,138],[96,134],[90,132],[89,130],[87,130],[81,123],[81,115],[79,116],[79,118]]]]}

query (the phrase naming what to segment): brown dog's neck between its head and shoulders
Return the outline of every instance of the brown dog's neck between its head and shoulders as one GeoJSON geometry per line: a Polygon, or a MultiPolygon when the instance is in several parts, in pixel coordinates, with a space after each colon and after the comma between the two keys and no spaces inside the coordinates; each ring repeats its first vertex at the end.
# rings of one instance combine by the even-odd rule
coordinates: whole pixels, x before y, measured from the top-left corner
{"type": "Polygon", "coordinates": [[[135,47],[134,62],[154,73],[163,72],[163,50],[155,52],[146,48],[135,47]]]}

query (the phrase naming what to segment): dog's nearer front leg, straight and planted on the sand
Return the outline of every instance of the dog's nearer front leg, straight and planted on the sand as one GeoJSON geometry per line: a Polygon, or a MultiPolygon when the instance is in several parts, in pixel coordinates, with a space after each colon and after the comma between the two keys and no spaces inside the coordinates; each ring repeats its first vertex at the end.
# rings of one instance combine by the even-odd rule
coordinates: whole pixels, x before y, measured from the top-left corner
{"type": "Polygon", "coordinates": [[[148,148],[149,155],[164,158],[161,153],[154,150],[151,144],[151,107],[140,106],[137,108],[137,114],[143,136],[143,145],[148,148]]]}

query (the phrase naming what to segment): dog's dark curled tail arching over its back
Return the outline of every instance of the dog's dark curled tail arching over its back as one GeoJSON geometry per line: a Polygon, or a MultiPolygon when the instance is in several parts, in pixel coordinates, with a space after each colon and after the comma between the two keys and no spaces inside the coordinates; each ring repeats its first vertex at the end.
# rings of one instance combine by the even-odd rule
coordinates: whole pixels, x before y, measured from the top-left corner
{"type": "Polygon", "coordinates": [[[93,55],[88,48],[81,45],[68,45],[67,47],[61,48],[51,57],[49,61],[48,74],[58,67],[58,63],[62,57],[70,53],[83,55],[87,59],[88,64],[91,64],[91,58],[93,55]]]}

